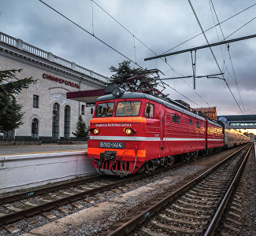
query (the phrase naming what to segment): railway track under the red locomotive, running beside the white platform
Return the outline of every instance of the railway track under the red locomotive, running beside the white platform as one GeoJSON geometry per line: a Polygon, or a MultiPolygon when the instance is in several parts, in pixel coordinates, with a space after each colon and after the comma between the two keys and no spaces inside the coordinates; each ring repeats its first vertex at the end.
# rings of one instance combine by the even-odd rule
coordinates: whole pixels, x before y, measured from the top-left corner
{"type": "MultiPolygon", "coordinates": [[[[181,164],[161,168],[154,171],[158,175],[162,171],[176,168],[181,164]]],[[[62,213],[72,212],[73,208],[83,208],[84,205],[92,204],[103,199],[101,194],[113,195],[132,189],[128,183],[143,181],[149,175],[132,175],[125,179],[111,177],[109,175],[97,175],[87,179],[78,179],[68,183],[54,186],[46,186],[37,190],[30,190],[19,194],[0,197],[0,230],[1,227],[9,233],[19,232],[20,229],[13,224],[20,219],[29,223],[35,223],[32,216],[42,215],[46,219],[54,219],[56,216],[50,210],[56,209],[62,213]]]]}

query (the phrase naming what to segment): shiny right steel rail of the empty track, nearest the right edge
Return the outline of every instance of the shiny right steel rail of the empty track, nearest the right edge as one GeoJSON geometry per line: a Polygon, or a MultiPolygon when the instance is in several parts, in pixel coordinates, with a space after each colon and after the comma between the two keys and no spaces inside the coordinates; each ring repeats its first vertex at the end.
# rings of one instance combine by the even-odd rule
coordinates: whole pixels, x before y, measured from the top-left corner
{"type": "Polygon", "coordinates": [[[250,146],[250,149],[248,150],[246,156],[243,158],[243,162],[240,164],[239,169],[236,172],[236,175],[235,175],[234,179],[232,180],[232,183],[230,183],[228,190],[227,190],[226,194],[224,195],[224,197],[221,201],[221,204],[217,208],[217,211],[215,212],[213,219],[211,220],[210,225],[207,228],[204,236],[210,236],[210,235],[215,234],[215,230],[217,229],[218,223],[221,220],[221,216],[224,212],[224,209],[225,209],[226,205],[228,204],[228,200],[232,195],[232,191],[234,190],[235,184],[236,184],[237,180],[239,179],[239,176],[241,175],[242,170],[247,162],[247,159],[248,159],[248,156],[249,156],[252,146],[253,145],[250,146]]]}

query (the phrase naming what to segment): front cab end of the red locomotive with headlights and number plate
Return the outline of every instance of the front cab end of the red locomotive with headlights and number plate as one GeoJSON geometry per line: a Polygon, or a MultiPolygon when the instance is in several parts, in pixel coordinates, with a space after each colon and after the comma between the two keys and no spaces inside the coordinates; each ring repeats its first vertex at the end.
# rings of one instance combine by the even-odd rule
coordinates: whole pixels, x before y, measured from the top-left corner
{"type": "Polygon", "coordinates": [[[98,98],[87,149],[98,172],[128,175],[141,167],[146,157],[144,142],[140,142],[145,136],[146,103],[130,92],[98,98]]]}

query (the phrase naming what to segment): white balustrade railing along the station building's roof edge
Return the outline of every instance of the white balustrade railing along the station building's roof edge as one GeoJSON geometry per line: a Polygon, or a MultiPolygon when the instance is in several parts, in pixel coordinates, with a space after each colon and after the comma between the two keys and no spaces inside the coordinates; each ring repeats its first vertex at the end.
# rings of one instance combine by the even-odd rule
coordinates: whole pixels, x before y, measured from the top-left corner
{"type": "Polygon", "coordinates": [[[43,59],[46,59],[48,61],[52,61],[58,65],[62,65],[65,68],[70,68],[76,72],[80,72],[81,74],[85,76],[91,76],[94,79],[101,80],[103,82],[107,82],[107,77],[102,76],[94,71],[91,71],[87,68],[84,68],[80,65],[76,65],[76,63],[65,60],[64,58],[58,57],[54,55],[53,53],[46,52],[45,50],[41,50],[36,46],[32,46],[28,44],[27,42],[23,42],[20,39],[15,39],[12,36],[6,35],[2,32],[0,32],[0,42],[6,43],[9,46],[17,47],[19,50],[24,50],[28,53],[32,53],[33,55],[37,57],[42,57],[43,59]]]}

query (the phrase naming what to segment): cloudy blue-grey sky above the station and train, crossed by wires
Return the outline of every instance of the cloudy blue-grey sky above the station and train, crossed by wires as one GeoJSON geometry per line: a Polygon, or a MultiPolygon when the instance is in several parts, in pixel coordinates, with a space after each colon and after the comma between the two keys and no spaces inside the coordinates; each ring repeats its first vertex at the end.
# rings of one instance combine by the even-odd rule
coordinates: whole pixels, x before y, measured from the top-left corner
{"type": "MultiPolygon", "coordinates": [[[[137,65],[132,63],[132,67],[136,68],[139,65],[149,69],[158,68],[165,74],[161,76],[162,78],[191,76],[191,53],[166,57],[167,63],[162,59],[144,61],[144,58],[152,57],[154,53],[184,50],[207,43],[203,35],[198,35],[202,31],[186,0],[44,0],[44,2],[125,57],[135,61],[137,65]],[[198,35],[195,39],[185,42],[195,35],[198,35]],[[185,43],[178,46],[182,42],[185,43]],[[173,47],[176,48],[170,50],[173,47]]],[[[223,40],[223,35],[227,39],[236,39],[254,35],[256,32],[256,19],[254,20],[256,1],[195,0],[191,2],[203,30],[212,28],[217,24],[217,19],[219,22],[226,20],[221,24],[221,29],[213,27],[206,31],[206,38],[210,43],[223,40]],[[248,7],[250,8],[243,11],[248,7]],[[243,12],[239,13],[241,11],[243,12]],[[236,13],[239,14],[232,17],[236,13]],[[229,17],[232,18],[227,20],[229,17]]],[[[0,13],[0,31],[104,76],[111,76],[109,72],[111,65],[117,67],[118,63],[127,60],[39,0],[0,0],[0,13]]],[[[255,114],[256,39],[230,43],[229,53],[227,46],[215,46],[212,50],[238,105],[222,79],[196,79],[195,90],[192,79],[165,80],[169,87],[166,87],[164,92],[170,94],[170,98],[188,102],[191,107],[217,106],[218,115],[235,115],[242,112],[255,114]]],[[[198,50],[196,75],[220,73],[217,63],[209,48],[198,50]]]]}

